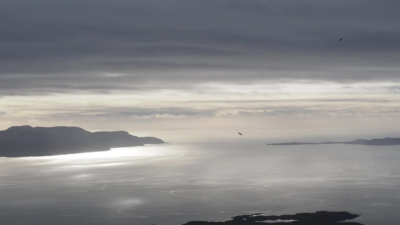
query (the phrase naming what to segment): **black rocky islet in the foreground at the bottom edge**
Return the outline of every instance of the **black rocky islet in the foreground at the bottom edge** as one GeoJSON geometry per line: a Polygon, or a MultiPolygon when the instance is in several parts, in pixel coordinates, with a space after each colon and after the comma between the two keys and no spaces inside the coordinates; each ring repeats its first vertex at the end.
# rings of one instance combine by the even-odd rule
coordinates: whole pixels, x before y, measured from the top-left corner
{"type": "Polygon", "coordinates": [[[241,215],[232,217],[232,220],[224,222],[190,221],[184,225],[362,225],[356,222],[340,222],[347,219],[354,219],[360,215],[348,212],[318,211],[316,213],[296,213],[294,215],[265,216],[260,213],[252,215],[241,215]],[[277,220],[295,220],[292,222],[278,222],[277,220]],[[268,222],[260,222],[267,221],[268,222]]]}

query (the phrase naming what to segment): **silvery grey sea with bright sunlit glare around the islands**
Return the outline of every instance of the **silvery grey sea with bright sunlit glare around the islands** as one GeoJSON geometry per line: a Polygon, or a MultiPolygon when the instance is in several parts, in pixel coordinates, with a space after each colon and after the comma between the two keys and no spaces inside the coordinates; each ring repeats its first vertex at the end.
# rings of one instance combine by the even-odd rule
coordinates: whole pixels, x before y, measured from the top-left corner
{"type": "MultiPolygon", "coordinates": [[[[182,225],[322,210],[362,214],[351,221],[365,225],[399,223],[400,146],[270,146],[241,133],[0,158],[0,224],[182,225]]],[[[273,141],[283,140],[315,141],[273,141]]]]}

